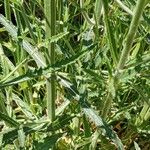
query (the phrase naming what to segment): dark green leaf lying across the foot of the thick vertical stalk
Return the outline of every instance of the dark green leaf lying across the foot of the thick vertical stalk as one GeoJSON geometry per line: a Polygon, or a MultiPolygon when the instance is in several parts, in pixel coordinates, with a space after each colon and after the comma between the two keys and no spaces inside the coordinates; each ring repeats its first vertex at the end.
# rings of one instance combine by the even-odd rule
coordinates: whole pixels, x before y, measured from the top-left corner
{"type": "MultiPolygon", "coordinates": [[[[46,120],[46,118],[43,118],[43,120],[38,120],[36,122],[32,121],[31,123],[22,124],[21,130],[25,136],[31,133],[37,133],[37,132],[39,132],[40,134],[53,132],[70,124],[70,121],[74,117],[75,116],[62,115],[62,116],[59,116],[51,124],[48,120],[46,120]]],[[[18,131],[19,131],[19,128],[18,129],[9,128],[0,132],[0,135],[3,135],[3,146],[13,143],[13,141],[18,138],[18,131]]]]}

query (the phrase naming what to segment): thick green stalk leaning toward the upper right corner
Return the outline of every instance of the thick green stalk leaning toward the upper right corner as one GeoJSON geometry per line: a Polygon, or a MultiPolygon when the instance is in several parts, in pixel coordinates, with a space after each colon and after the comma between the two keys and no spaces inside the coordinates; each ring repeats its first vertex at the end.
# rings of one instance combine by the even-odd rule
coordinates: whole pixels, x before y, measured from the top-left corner
{"type": "Polygon", "coordinates": [[[108,82],[109,83],[108,96],[107,96],[107,99],[104,103],[103,110],[102,110],[102,117],[104,117],[104,118],[107,117],[108,112],[112,105],[112,100],[115,97],[115,95],[113,94],[113,91],[111,91],[111,89],[113,89],[114,91],[117,90],[117,83],[119,80],[119,72],[120,72],[120,70],[122,70],[124,68],[125,63],[128,60],[128,55],[132,48],[133,40],[134,40],[135,34],[137,32],[138,25],[140,23],[140,18],[142,16],[146,2],[147,2],[147,0],[138,0],[137,1],[128,34],[127,34],[125,40],[123,41],[123,50],[121,53],[121,57],[119,59],[119,63],[116,68],[115,76],[113,77],[113,79],[111,79],[111,80],[113,80],[113,87],[111,85],[111,82],[110,81],[108,82]]]}

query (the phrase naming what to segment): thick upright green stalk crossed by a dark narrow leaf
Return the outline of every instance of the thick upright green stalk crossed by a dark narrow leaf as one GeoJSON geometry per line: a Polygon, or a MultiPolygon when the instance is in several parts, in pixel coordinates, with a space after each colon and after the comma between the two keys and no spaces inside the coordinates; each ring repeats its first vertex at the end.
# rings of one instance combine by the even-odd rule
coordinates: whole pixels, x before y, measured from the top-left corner
{"type": "MultiPolygon", "coordinates": [[[[56,25],[56,1],[55,0],[45,0],[44,1],[44,9],[46,16],[46,40],[48,40],[51,36],[55,35],[55,25],[56,25]]],[[[52,65],[55,63],[55,44],[48,44],[48,64],[52,65]]],[[[50,121],[54,121],[55,119],[55,98],[56,98],[56,90],[55,90],[55,80],[54,73],[51,74],[49,80],[47,80],[47,115],[50,121]]]]}

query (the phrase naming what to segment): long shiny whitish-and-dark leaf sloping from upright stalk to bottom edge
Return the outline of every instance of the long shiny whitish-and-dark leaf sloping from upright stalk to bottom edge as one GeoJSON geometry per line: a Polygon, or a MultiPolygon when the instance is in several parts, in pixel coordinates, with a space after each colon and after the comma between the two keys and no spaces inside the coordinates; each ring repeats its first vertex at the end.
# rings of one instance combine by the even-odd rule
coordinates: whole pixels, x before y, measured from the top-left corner
{"type": "MultiPolygon", "coordinates": [[[[59,81],[63,80],[65,82],[65,78],[61,79],[59,77],[59,81]]],[[[71,83],[69,83],[68,79],[66,79],[66,88],[69,88],[70,91],[72,91],[74,94],[72,95],[73,99],[76,99],[85,115],[92,121],[96,127],[100,130],[100,133],[102,131],[102,134],[108,137],[110,140],[112,140],[118,147],[119,150],[123,150],[123,144],[121,140],[119,139],[118,135],[108,126],[108,124],[99,116],[97,113],[90,107],[90,105],[86,102],[86,97],[82,95],[79,95],[80,93],[76,87],[72,86],[71,83]],[[70,86],[71,85],[71,86],[70,86]]],[[[61,82],[59,82],[61,84],[61,82]]],[[[86,95],[86,94],[85,94],[86,95]]]]}

